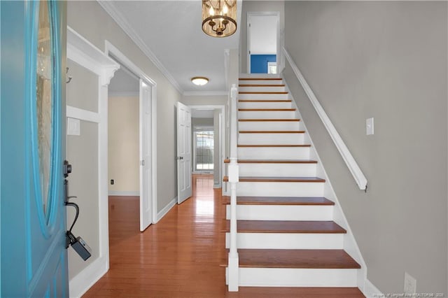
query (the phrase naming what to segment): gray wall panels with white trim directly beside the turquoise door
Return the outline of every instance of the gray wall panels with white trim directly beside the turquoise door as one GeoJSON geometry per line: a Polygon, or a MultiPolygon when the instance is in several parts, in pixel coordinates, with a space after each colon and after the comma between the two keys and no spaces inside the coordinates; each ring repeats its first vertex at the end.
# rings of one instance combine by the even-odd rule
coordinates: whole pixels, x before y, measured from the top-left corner
{"type": "MultiPolygon", "coordinates": [[[[98,76],[83,66],[67,60],[72,80],[66,84],[67,105],[98,112],[98,76]]],[[[69,195],[79,205],[80,213],[73,234],[81,236],[92,248],[87,262],[69,248],[69,279],[99,257],[98,220],[98,124],[80,120],[80,136],[66,136],[66,159],[73,170],[69,178],[69,195]]],[[[67,208],[67,227],[75,217],[73,208],[67,208]]]]}

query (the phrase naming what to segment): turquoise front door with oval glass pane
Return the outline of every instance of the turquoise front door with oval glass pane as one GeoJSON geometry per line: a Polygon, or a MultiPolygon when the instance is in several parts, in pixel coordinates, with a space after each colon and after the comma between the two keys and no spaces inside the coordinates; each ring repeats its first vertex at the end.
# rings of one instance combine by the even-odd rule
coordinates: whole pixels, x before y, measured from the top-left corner
{"type": "Polygon", "coordinates": [[[0,1],[1,297],[68,297],[65,1],[0,1]]]}

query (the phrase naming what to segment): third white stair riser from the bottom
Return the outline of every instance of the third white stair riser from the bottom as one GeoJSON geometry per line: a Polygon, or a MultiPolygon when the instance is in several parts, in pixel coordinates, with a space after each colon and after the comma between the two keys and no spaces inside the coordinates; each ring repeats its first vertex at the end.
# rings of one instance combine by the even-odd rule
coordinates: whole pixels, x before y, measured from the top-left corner
{"type": "MultiPolygon", "coordinates": [[[[226,206],[230,220],[230,205],[226,206]]],[[[333,206],[314,205],[238,205],[239,220],[333,220],[333,206]]]]}

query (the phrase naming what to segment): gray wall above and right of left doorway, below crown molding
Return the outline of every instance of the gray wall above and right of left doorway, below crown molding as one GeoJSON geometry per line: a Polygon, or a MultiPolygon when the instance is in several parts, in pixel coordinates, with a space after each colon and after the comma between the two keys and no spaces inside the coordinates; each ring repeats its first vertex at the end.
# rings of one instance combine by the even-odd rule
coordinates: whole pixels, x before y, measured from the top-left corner
{"type": "Polygon", "coordinates": [[[157,200],[158,211],[162,210],[176,197],[174,105],[181,94],[96,1],[69,1],[68,25],[101,50],[110,41],[157,83],[157,200]]]}

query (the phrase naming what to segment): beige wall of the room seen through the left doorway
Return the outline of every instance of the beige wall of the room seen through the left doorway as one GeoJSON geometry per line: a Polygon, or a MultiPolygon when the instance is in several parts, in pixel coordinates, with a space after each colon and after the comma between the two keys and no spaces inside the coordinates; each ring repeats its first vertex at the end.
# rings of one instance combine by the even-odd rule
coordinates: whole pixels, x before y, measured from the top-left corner
{"type": "Polygon", "coordinates": [[[109,97],[108,129],[109,194],[139,195],[139,97],[109,97]]]}

